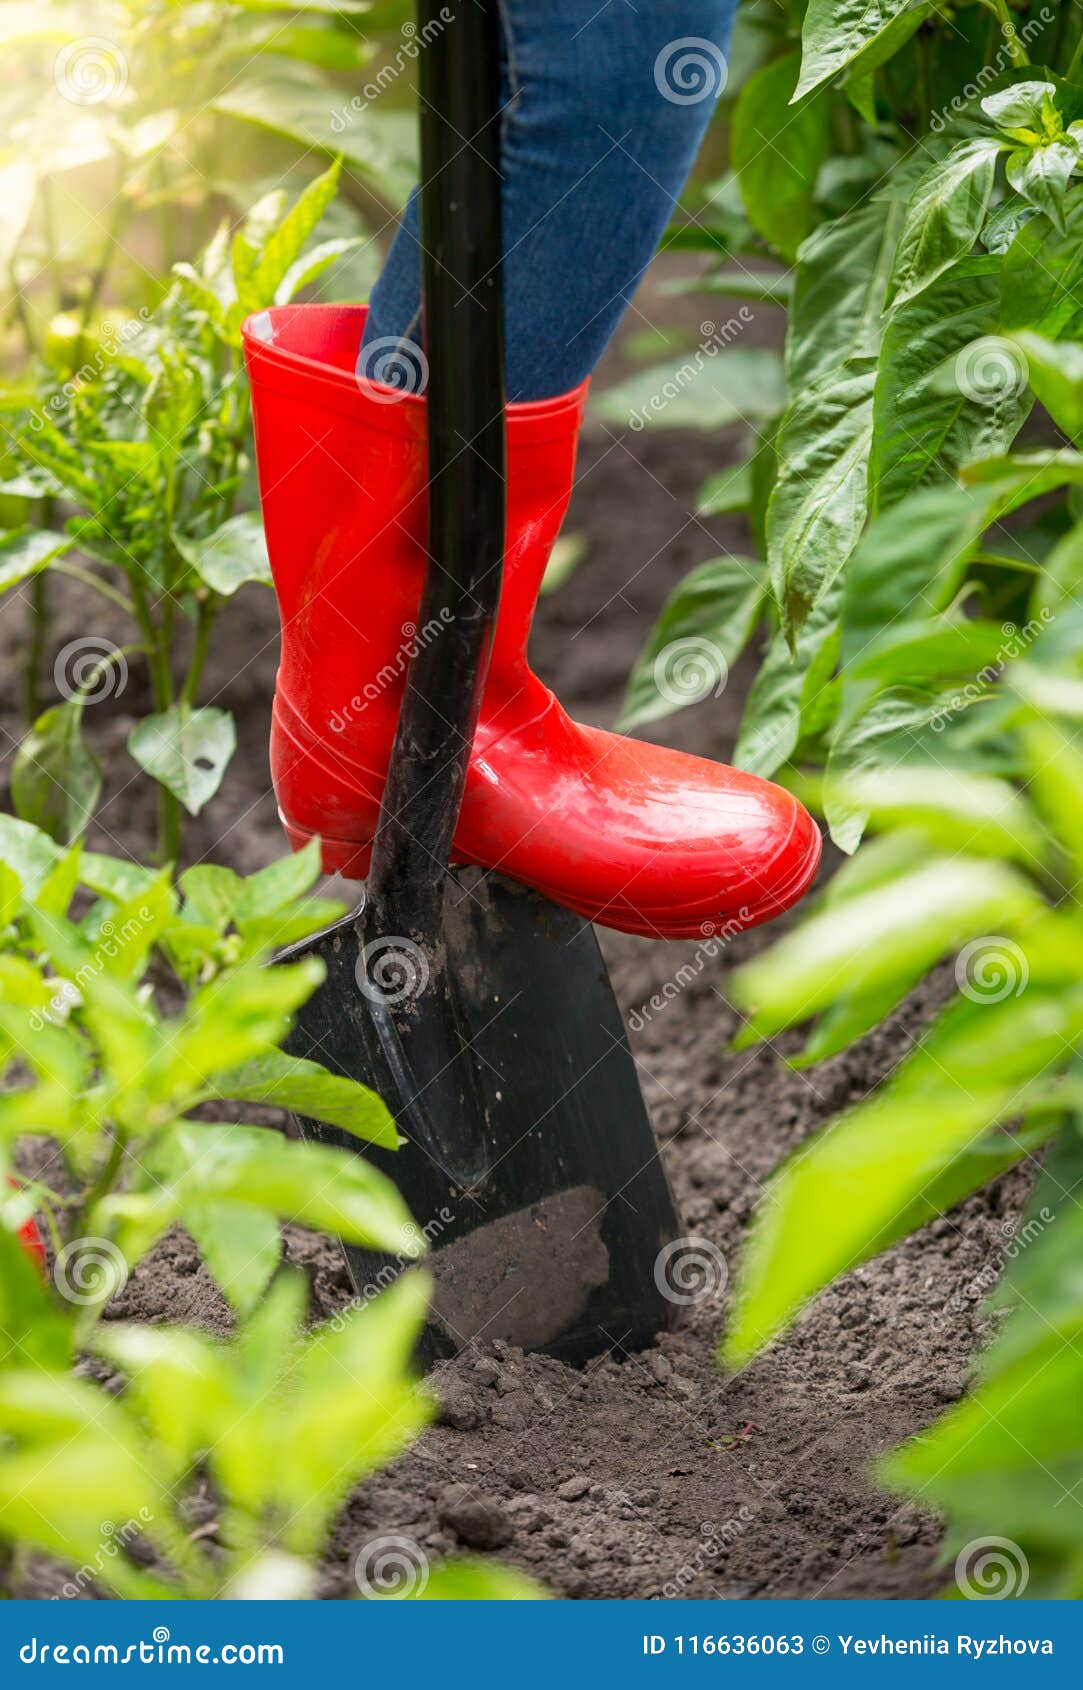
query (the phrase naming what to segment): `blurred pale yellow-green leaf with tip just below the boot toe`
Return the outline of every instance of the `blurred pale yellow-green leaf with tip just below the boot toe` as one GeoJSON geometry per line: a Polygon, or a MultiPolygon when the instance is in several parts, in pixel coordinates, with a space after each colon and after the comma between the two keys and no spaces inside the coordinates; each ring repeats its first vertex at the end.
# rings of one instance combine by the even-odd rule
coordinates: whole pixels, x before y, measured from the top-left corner
{"type": "Polygon", "coordinates": [[[841,994],[877,992],[899,973],[922,972],[983,933],[1015,931],[1036,894],[1005,864],[936,857],[846,901],[846,919],[824,908],[732,975],[732,995],[757,1038],[819,1014],[841,994]]]}

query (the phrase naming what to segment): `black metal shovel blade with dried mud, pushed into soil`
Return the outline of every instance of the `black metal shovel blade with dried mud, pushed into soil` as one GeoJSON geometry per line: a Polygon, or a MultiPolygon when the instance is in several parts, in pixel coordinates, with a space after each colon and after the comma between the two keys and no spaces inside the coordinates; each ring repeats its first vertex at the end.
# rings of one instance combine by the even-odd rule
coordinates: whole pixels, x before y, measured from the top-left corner
{"type": "MultiPolygon", "coordinates": [[[[429,1242],[424,1355],[478,1338],[573,1364],[644,1349],[672,1313],[657,1261],[679,1227],[595,931],[522,886],[461,869],[448,875],[443,945],[458,1061],[470,1066],[465,1142],[451,1156],[416,1141],[363,1149],[429,1242]]],[[[313,953],[326,980],[287,1049],[380,1092],[409,1134],[416,1097],[404,1093],[424,1097],[426,1080],[382,1061],[353,919],[289,955],[313,953]]],[[[409,1065],[409,1038],[404,1049],[409,1065]]],[[[336,1129],[297,1126],[358,1149],[336,1129]]],[[[346,1261],[365,1298],[402,1266],[355,1247],[346,1261]]]]}

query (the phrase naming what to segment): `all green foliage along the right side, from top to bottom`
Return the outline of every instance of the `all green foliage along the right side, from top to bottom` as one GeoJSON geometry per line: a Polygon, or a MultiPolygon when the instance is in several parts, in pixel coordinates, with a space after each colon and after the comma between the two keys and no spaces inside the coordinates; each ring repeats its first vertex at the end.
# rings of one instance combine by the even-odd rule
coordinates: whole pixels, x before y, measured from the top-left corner
{"type": "Polygon", "coordinates": [[[701,507],[747,510],[755,554],[676,590],[625,722],[674,706],[671,647],[699,654],[691,703],[762,632],[735,760],[857,852],[732,977],[738,1044],[813,1022],[794,1061],[816,1063],[948,958],[958,990],[776,1173],[723,1357],[748,1362],[833,1278],[1048,1158],[995,1264],[1012,1315],[973,1393],[880,1475],[946,1513],[950,1548],[1009,1533],[1015,1594],[1078,1597],[1083,7],[752,0],[742,20],[732,171],[672,238],[713,254],[689,286],[786,308],[786,404],[764,363],[742,407],[735,335],[681,367],[679,417],[645,401],[672,365],[608,395],[644,424],[715,426],[723,392],[725,421],[754,422],[701,507]]]}

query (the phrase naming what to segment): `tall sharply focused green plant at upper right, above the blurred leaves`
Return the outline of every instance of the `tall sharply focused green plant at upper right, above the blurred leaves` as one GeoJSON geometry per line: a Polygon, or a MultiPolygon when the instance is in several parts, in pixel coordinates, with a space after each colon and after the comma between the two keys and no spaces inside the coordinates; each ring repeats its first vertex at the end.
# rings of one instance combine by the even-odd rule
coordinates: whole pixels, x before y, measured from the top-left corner
{"type": "MultiPolygon", "coordinates": [[[[755,428],[748,461],[715,478],[701,509],[747,509],[760,556],[720,559],[676,590],[634,671],[625,723],[681,701],[679,688],[657,684],[666,644],[698,641],[718,671],[764,629],[737,760],[792,779],[890,730],[885,706],[872,722],[852,708],[853,690],[840,708],[853,661],[840,652],[840,598],[867,526],[899,514],[880,529],[887,581],[889,544],[904,544],[926,509],[909,500],[1007,451],[1034,397],[1068,438],[1078,433],[1071,363],[1051,346],[1083,338],[1083,14],[993,0],[951,15],[909,0],[754,0],[742,22],[745,76],[727,108],[733,169],[674,240],[715,255],[689,286],[786,304],[787,401],[770,404],[769,365],[743,399],[755,353],[718,350],[710,336],[705,357],[681,367],[678,407],[652,412],[642,397],[672,368],[640,372],[635,392],[607,397],[613,416],[635,399],[645,424],[698,412],[715,426],[715,395],[730,387],[728,419],[740,409],[755,428]],[[764,269],[770,259],[787,274],[764,269]],[[733,358],[745,360],[737,382],[733,358]]],[[[1042,490],[1037,466],[1032,493],[1042,490]]],[[[1020,488],[1015,502],[1026,497],[1020,488]]],[[[995,544],[975,542],[966,585],[1000,613],[1017,608],[1078,514],[1071,492],[1010,541],[997,529],[995,544]]],[[[921,608],[904,593],[892,607],[921,608]]],[[[958,607],[956,620],[965,613],[958,607]]],[[[922,661],[914,654],[906,679],[934,688],[941,673],[922,661]]],[[[706,691],[689,686],[686,698],[706,691]]],[[[895,740],[909,730],[901,722],[895,740]]]]}

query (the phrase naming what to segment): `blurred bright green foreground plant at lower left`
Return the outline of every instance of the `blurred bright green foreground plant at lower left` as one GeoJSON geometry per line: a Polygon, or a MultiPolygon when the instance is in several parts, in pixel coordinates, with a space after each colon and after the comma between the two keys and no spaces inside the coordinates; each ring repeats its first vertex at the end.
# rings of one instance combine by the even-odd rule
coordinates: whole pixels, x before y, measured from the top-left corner
{"type": "MultiPolygon", "coordinates": [[[[78,1568],[78,1589],[96,1578],[125,1597],[311,1595],[351,1486],[431,1416],[411,1372],[424,1274],[307,1333],[304,1281],[274,1278],[280,1220],[417,1259],[424,1239],[394,1186],[351,1151],[215,1119],[252,1100],[399,1142],[372,1092],[280,1049],[321,968],[267,962],[340,913],[306,896],[318,872],[307,850],[247,879],[201,865],[174,887],[167,870],[61,850],[0,818],[8,1580],[37,1548],[78,1568]],[[12,1153],[34,1136],[47,1154],[12,1185],[12,1153]],[[47,1227],[49,1283],[17,1240],[29,1213],[47,1227]],[[103,1320],[171,1225],[191,1234],[237,1311],[230,1340],[103,1320]],[[120,1369],[120,1396],[73,1374],[88,1357],[120,1369]],[[213,1529],[191,1516],[199,1482],[213,1529]]],[[[422,1573],[411,1594],[537,1594],[470,1563],[434,1568],[427,1585],[422,1573]]]]}

